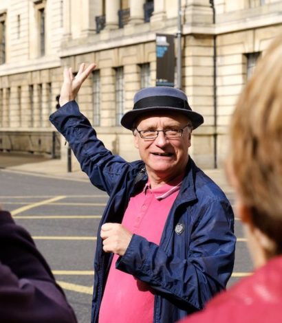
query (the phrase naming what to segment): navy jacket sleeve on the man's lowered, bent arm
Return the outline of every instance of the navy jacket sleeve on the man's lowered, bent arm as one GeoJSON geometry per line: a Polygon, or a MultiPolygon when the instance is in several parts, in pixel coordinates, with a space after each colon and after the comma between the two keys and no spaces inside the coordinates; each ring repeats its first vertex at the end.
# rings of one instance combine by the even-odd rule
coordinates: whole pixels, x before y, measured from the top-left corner
{"type": "MultiPolygon", "coordinates": [[[[181,245],[165,250],[142,236],[133,235],[116,267],[173,298],[179,306],[186,304],[202,309],[207,300],[225,288],[230,278],[236,238],[228,203],[215,201],[202,206],[199,212],[202,212],[199,221],[191,229],[191,238],[187,238],[190,241],[184,241],[183,234],[181,245]],[[177,248],[186,250],[183,257],[177,248]]],[[[172,240],[175,232],[168,234],[169,245],[175,244],[172,240]]]]}

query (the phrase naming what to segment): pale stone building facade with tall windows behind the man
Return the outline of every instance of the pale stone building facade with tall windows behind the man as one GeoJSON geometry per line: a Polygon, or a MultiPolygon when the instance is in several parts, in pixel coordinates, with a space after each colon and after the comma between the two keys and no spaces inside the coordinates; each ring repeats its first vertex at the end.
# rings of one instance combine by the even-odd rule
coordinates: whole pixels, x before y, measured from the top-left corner
{"type": "Polygon", "coordinates": [[[205,119],[190,153],[201,167],[222,166],[237,96],[282,32],[281,12],[277,0],[182,0],[180,11],[177,0],[1,0],[0,150],[56,155],[48,115],[63,67],[75,74],[80,63],[95,62],[78,95],[80,109],[113,153],[138,158],[120,116],[138,89],[155,85],[156,34],[176,35],[180,14],[181,87],[205,119]]]}

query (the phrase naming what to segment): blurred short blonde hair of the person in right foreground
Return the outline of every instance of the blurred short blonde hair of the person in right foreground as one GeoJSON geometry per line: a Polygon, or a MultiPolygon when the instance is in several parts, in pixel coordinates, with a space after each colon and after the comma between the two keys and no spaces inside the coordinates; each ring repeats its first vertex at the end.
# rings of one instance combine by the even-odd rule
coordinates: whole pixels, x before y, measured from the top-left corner
{"type": "Polygon", "coordinates": [[[282,253],[282,35],[259,60],[230,124],[228,161],[254,225],[282,253]]]}

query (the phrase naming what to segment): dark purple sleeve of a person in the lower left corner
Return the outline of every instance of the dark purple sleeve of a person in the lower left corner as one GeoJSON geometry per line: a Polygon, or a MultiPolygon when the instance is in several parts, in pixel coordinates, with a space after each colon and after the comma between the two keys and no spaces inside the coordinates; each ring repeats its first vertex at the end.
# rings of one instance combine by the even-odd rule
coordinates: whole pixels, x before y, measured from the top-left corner
{"type": "Polygon", "coordinates": [[[0,212],[0,321],[75,323],[76,317],[30,234],[0,212]]]}

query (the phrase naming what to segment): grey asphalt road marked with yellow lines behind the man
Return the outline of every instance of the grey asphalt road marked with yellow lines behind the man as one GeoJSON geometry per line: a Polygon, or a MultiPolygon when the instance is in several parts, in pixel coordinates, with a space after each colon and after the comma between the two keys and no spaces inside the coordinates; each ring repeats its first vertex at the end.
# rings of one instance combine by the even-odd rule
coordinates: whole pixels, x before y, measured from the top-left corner
{"type": "MultiPolygon", "coordinates": [[[[74,307],[78,322],[90,322],[93,259],[107,194],[83,179],[0,170],[0,203],[33,236],[74,307]]],[[[234,197],[229,196],[234,202],[234,197]]],[[[228,288],[251,270],[241,223],[235,221],[237,250],[228,288]]]]}

